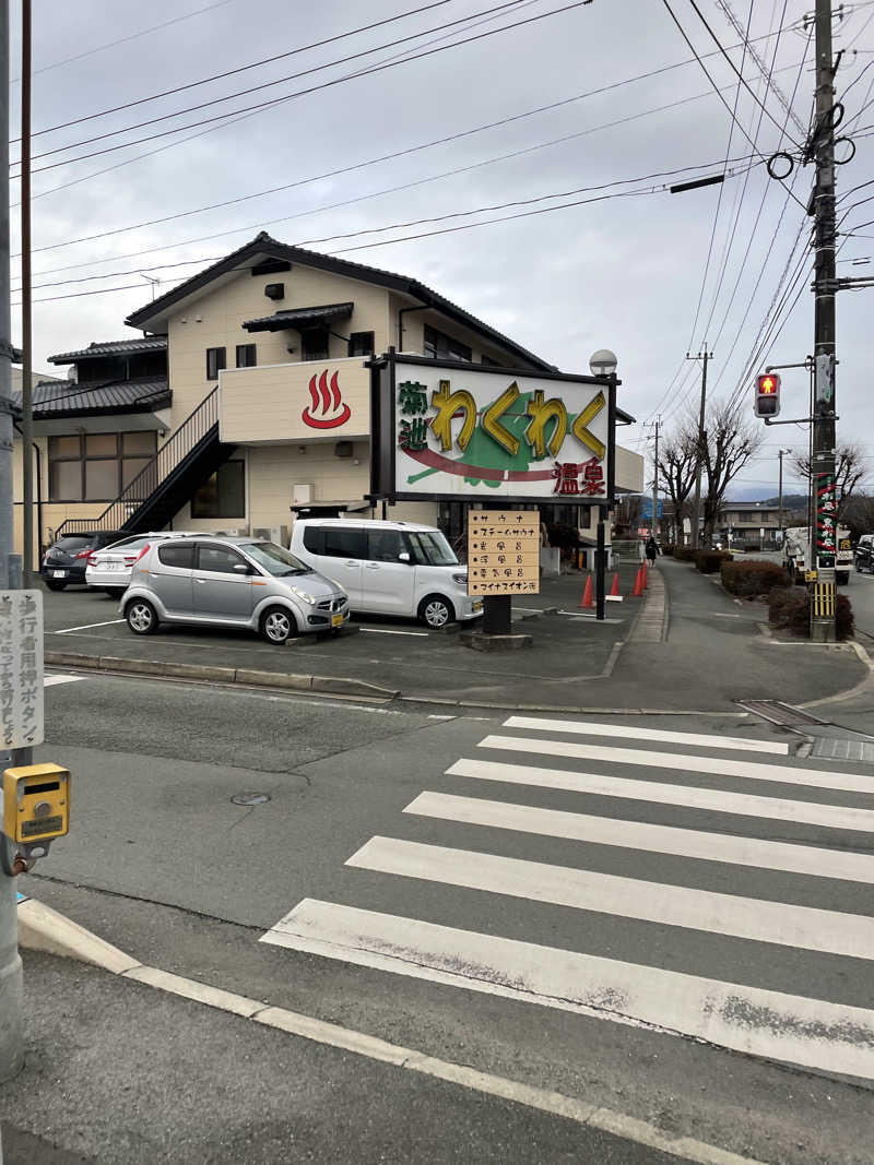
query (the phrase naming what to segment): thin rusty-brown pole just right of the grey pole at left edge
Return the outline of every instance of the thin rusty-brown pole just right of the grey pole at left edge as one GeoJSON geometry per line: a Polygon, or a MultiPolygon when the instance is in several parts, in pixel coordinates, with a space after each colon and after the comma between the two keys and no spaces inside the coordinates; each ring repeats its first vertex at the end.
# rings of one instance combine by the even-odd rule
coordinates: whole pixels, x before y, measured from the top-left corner
{"type": "MultiPolygon", "coordinates": [[[[30,290],[30,0],[21,0],[21,539],[23,580],[34,569],[34,359],[30,290]]],[[[40,531],[42,539],[42,531],[40,531]]]]}

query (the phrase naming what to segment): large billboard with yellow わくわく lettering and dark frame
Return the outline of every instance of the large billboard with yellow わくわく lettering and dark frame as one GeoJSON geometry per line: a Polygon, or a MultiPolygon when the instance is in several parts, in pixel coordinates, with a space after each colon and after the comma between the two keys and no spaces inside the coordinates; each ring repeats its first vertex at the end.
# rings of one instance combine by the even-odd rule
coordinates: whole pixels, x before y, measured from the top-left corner
{"type": "Polygon", "coordinates": [[[594,376],[390,353],[373,363],[376,495],[613,501],[615,389],[594,376]]]}

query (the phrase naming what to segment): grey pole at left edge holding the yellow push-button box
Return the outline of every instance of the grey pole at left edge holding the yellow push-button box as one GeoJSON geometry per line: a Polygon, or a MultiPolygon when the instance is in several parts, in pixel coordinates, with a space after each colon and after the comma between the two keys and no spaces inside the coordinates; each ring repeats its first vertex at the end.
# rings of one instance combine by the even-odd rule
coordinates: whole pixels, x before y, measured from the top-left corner
{"type": "MultiPolygon", "coordinates": [[[[0,125],[9,123],[9,0],[0,0],[0,125]]],[[[0,170],[9,165],[8,134],[0,135],[0,170]]],[[[13,555],[12,334],[9,323],[9,186],[0,193],[0,589],[21,585],[13,555]]],[[[26,446],[27,447],[27,446],[26,446]]],[[[8,754],[6,754],[8,756],[8,754]]],[[[5,754],[0,753],[0,762],[5,754]]],[[[2,768],[9,762],[2,764],[2,768]]],[[[0,834],[0,846],[6,846],[0,834]]],[[[0,1081],[21,1068],[21,958],[15,882],[0,866],[0,1081]]]]}

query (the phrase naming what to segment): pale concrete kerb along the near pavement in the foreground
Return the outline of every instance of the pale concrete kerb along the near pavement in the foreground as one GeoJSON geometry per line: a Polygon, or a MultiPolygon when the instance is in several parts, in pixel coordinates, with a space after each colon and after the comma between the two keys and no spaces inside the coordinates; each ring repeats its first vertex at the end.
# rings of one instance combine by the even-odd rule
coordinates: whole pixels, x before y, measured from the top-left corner
{"type": "Polygon", "coordinates": [[[481,1095],[496,1096],[542,1113],[551,1113],[579,1125],[600,1129],[648,1149],[668,1153],[678,1160],[696,1162],[698,1165],[764,1165],[763,1162],[720,1149],[695,1137],[668,1132],[647,1121],[606,1108],[583,1096],[568,1096],[489,1072],[480,1072],[470,1065],[442,1060],[411,1047],[388,1043],[367,1032],[317,1019],[287,1008],[272,1007],[261,1000],[226,991],[210,983],[161,970],[158,967],[145,966],[33,898],[19,903],[19,942],[27,949],[87,962],[120,979],[133,980],[155,990],[167,991],[203,1007],[235,1015],[275,1031],[283,1031],[369,1060],[392,1064],[401,1071],[445,1080],[481,1095]]]}

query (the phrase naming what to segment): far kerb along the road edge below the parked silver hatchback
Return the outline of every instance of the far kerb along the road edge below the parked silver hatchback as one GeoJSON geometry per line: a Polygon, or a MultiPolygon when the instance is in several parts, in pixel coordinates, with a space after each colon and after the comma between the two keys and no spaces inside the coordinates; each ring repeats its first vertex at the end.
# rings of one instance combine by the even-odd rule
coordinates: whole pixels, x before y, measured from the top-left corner
{"type": "Polygon", "coordinates": [[[89,656],[76,651],[47,651],[45,664],[83,671],[113,671],[131,676],[157,676],[168,679],[199,679],[213,684],[246,684],[249,687],[290,687],[298,692],[334,696],[362,696],[394,700],[396,689],[381,687],[364,679],[343,676],[299,676],[284,671],[256,671],[249,668],[210,668],[199,663],[170,663],[160,659],[125,659],[120,656],[89,656]]]}

